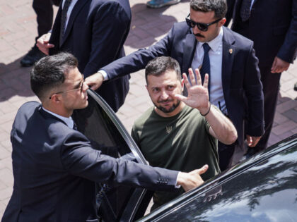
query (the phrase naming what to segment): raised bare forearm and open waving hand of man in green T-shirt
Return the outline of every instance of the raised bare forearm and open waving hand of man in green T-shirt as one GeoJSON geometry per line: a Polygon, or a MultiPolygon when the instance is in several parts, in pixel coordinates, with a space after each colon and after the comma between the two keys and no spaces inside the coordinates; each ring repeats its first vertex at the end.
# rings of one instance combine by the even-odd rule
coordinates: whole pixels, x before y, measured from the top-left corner
{"type": "Polygon", "coordinates": [[[194,109],[198,109],[199,112],[206,118],[211,126],[209,128],[209,133],[216,137],[219,141],[224,144],[232,144],[237,139],[237,132],[231,121],[226,118],[226,116],[221,113],[221,111],[212,108],[209,102],[209,75],[206,74],[204,78],[204,85],[202,85],[199,69],[195,70],[197,76],[197,82],[194,78],[194,73],[192,68],[189,69],[190,82],[187,79],[185,73],[182,74],[185,81],[185,85],[188,91],[188,97],[184,97],[180,94],[176,94],[175,98],[180,99],[180,101],[185,102],[188,106],[194,109]]]}

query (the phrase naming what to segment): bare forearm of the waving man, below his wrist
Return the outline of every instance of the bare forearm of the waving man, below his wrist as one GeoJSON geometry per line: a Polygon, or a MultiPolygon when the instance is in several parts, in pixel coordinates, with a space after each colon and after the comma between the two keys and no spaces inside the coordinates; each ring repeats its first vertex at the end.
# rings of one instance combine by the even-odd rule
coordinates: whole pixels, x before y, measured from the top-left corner
{"type": "Polygon", "coordinates": [[[233,123],[231,123],[221,111],[216,109],[215,106],[211,106],[211,109],[205,118],[211,126],[209,132],[220,142],[224,144],[232,144],[237,140],[237,131],[233,123]]]}

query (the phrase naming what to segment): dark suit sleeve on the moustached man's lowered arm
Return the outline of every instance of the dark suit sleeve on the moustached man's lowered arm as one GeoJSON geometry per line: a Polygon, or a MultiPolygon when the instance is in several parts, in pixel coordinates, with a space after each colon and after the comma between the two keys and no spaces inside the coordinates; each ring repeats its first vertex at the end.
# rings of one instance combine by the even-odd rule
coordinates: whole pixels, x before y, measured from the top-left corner
{"type": "Polygon", "coordinates": [[[264,96],[260,81],[258,59],[253,44],[250,44],[244,79],[245,96],[248,99],[248,128],[250,136],[264,134],[264,96]]]}

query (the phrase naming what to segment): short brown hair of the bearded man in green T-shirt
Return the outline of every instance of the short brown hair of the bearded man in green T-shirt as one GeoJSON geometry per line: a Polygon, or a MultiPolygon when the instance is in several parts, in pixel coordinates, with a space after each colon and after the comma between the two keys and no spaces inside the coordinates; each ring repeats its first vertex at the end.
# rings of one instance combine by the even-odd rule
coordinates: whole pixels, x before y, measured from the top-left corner
{"type": "Polygon", "coordinates": [[[182,79],[180,64],[174,58],[169,56],[153,58],[153,60],[149,61],[146,65],[146,84],[148,84],[148,75],[160,76],[168,70],[174,70],[177,79],[182,79]]]}

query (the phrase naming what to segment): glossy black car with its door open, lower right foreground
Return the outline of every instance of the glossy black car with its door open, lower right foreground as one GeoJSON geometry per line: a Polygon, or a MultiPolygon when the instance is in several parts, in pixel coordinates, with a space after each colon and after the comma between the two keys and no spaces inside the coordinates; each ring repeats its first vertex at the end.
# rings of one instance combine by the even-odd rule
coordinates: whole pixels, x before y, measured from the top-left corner
{"type": "MultiPolygon", "coordinates": [[[[92,90],[88,90],[88,97],[88,109],[74,113],[78,129],[105,154],[147,164],[105,101],[92,90]]],[[[98,185],[100,220],[297,221],[297,135],[144,216],[152,193],[140,188],[98,185]]]]}

